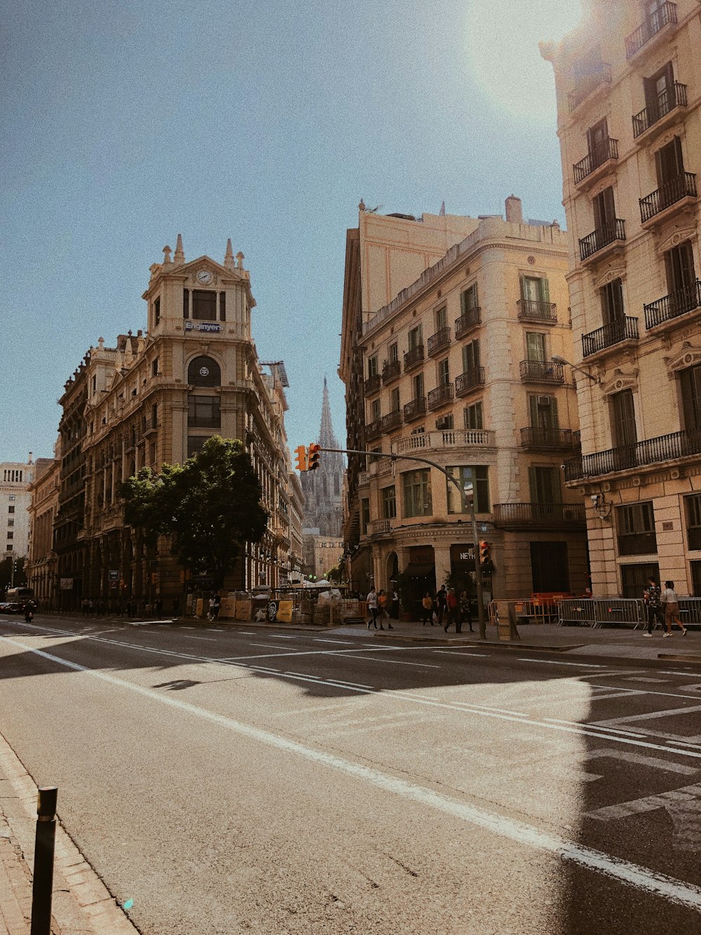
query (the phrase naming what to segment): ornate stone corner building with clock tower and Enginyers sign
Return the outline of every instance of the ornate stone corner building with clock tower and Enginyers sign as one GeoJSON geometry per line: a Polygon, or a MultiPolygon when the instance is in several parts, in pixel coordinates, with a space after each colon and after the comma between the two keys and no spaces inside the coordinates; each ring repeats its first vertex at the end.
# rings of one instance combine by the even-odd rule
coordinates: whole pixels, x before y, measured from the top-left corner
{"type": "MultiPolygon", "coordinates": [[[[123,523],[119,489],[140,468],[183,463],[214,434],[242,439],[270,514],[265,538],[241,556],[226,585],[249,590],[287,583],[290,572],[290,454],[284,365],[258,360],[251,337],[255,300],[243,254],[227,243],[222,264],[186,262],[181,238],[150,266],[143,294],[148,330],[103,338],[66,381],[60,403],[59,495],[54,521],[55,603],[82,597],[169,599],[183,577],[165,538],[149,546],[123,523]]],[[[301,528],[295,530],[301,555],[301,528]]],[[[299,564],[299,562],[297,562],[299,564]]]]}

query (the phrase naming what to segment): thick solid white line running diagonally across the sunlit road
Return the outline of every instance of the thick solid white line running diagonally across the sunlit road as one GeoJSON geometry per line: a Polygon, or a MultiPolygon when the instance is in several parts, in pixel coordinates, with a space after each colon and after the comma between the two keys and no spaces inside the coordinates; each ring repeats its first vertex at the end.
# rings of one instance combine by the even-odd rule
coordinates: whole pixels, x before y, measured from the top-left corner
{"type": "Polygon", "coordinates": [[[464,821],[466,824],[480,827],[498,837],[507,838],[509,841],[515,841],[525,847],[532,847],[539,851],[545,851],[552,856],[577,864],[587,870],[597,870],[610,879],[617,880],[620,883],[631,885],[643,892],[651,893],[654,896],[668,899],[670,902],[681,906],[687,906],[696,912],[701,912],[701,887],[686,883],[675,877],[667,876],[664,873],[658,873],[650,868],[643,867],[628,860],[622,860],[620,857],[612,856],[604,851],[597,851],[591,847],[585,847],[575,841],[568,841],[566,838],[549,834],[541,831],[539,828],[528,825],[525,822],[514,818],[508,818],[494,812],[487,812],[484,809],[477,808],[474,805],[468,805],[456,798],[450,798],[436,792],[434,789],[427,788],[419,784],[409,783],[407,780],[396,776],[390,776],[387,773],[372,769],[360,763],[353,763],[325,751],[305,746],[299,741],[289,740],[280,737],[270,731],[263,730],[260,727],[254,727],[249,724],[243,724],[228,718],[222,714],[207,711],[199,708],[190,702],[183,701],[180,698],[173,698],[172,695],[160,694],[151,688],[145,688],[142,685],[127,682],[117,676],[109,675],[107,672],[98,672],[94,669],[87,669],[75,662],[68,662],[60,656],[45,653],[43,650],[27,646],[19,640],[6,638],[7,642],[18,646],[25,652],[31,652],[42,658],[49,659],[50,662],[64,666],[66,669],[84,672],[93,679],[99,679],[101,682],[114,685],[118,688],[127,689],[135,692],[143,698],[149,698],[152,701],[158,701],[161,704],[175,708],[180,712],[202,718],[212,724],[216,724],[225,730],[239,734],[251,741],[265,743],[267,746],[274,747],[283,753],[299,756],[320,766],[327,767],[336,772],[345,773],[350,778],[378,787],[384,792],[407,798],[410,801],[420,805],[432,808],[438,812],[450,814],[454,818],[464,821]]]}

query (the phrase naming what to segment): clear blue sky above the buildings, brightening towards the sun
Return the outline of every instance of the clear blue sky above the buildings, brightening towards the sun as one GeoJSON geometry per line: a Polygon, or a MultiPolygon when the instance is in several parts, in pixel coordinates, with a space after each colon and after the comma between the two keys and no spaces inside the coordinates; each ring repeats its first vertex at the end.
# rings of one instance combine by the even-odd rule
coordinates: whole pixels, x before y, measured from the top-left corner
{"type": "Polygon", "coordinates": [[[379,213],[565,224],[539,38],[579,0],[17,0],[0,56],[0,461],[50,457],[64,381],[97,338],[146,327],[149,266],[227,237],[285,361],[291,448],[337,377],[346,229],[379,213]]]}

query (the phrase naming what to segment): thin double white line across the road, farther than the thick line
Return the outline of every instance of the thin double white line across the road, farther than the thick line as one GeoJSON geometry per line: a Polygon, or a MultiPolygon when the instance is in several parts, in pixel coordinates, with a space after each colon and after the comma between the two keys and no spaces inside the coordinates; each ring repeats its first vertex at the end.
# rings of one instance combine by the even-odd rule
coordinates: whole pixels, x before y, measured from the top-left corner
{"type": "MultiPolygon", "coordinates": [[[[30,625],[19,624],[19,626],[24,626],[25,628],[28,627],[33,630],[38,629],[38,627],[33,626],[31,624],[30,625]]],[[[60,633],[60,632],[61,631],[59,630],[53,630],[53,635],[60,633]]],[[[69,637],[75,637],[75,633],[71,633],[70,631],[64,631],[64,634],[69,637]]],[[[12,643],[14,641],[12,640],[12,638],[9,638],[9,637],[4,637],[3,639],[6,643],[12,643]]],[[[148,652],[148,653],[152,653],[155,655],[173,656],[175,658],[185,659],[186,661],[189,661],[189,662],[193,662],[193,661],[194,662],[209,662],[209,663],[221,662],[225,665],[235,665],[239,669],[250,669],[250,671],[253,671],[253,672],[265,672],[266,675],[277,675],[279,678],[293,678],[300,682],[309,682],[309,683],[318,684],[318,685],[319,684],[331,685],[332,687],[344,688],[346,691],[350,691],[350,688],[348,685],[339,683],[333,679],[323,679],[318,676],[311,676],[311,675],[306,675],[306,674],[285,676],[284,673],[282,673],[279,669],[271,669],[270,667],[265,667],[265,666],[250,666],[250,665],[245,665],[242,662],[231,663],[226,659],[218,659],[216,657],[212,658],[211,656],[201,656],[201,655],[198,656],[194,654],[176,653],[172,650],[155,649],[155,648],[151,648],[150,646],[139,646],[135,643],[123,642],[122,640],[105,640],[102,637],[94,637],[94,636],[88,637],[87,639],[94,640],[95,642],[105,642],[113,646],[122,646],[125,649],[132,649],[132,650],[137,650],[140,652],[148,652]]],[[[21,646],[25,650],[40,654],[39,650],[34,650],[30,646],[24,646],[23,643],[18,642],[17,645],[21,646]]],[[[72,645],[72,643],[70,645],[72,645]]],[[[353,690],[356,690],[356,689],[353,689],[353,690]]],[[[497,720],[512,721],[516,724],[522,724],[524,720],[522,715],[519,715],[517,717],[514,714],[505,714],[505,713],[489,711],[486,709],[480,709],[479,707],[475,705],[470,705],[468,702],[464,702],[463,704],[458,706],[455,703],[446,703],[436,698],[430,698],[428,696],[421,696],[421,695],[417,695],[416,693],[404,692],[404,691],[400,691],[397,689],[379,688],[379,689],[360,689],[360,690],[368,691],[368,692],[371,691],[373,694],[386,695],[388,698],[406,698],[410,701],[416,702],[417,704],[429,704],[433,707],[441,708],[443,710],[448,710],[452,712],[465,712],[465,713],[472,712],[476,714],[481,714],[483,717],[493,717],[493,718],[496,718],[497,720]]],[[[694,700],[697,700],[697,699],[694,699],[694,700]]],[[[617,734],[606,734],[604,733],[604,731],[608,729],[606,726],[602,726],[600,728],[599,726],[594,725],[593,729],[591,729],[589,725],[582,725],[582,724],[579,724],[578,722],[574,722],[572,726],[569,726],[568,724],[559,724],[557,722],[552,722],[552,721],[551,722],[537,721],[535,719],[529,720],[527,723],[530,726],[545,727],[551,730],[559,730],[559,731],[562,731],[563,733],[578,734],[579,736],[583,736],[583,737],[596,737],[596,738],[607,740],[607,741],[613,740],[613,741],[617,741],[618,743],[633,744],[635,746],[642,747],[648,750],[661,750],[661,751],[664,751],[665,754],[671,753],[669,747],[665,747],[660,743],[652,743],[650,741],[641,741],[641,740],[634,739],[634,738],[622,737],[617,734]]],[[[665,735],[656,735],[656,736],[664,737],[665,735]]],[[[696,752],[694,750],[677,750],[675,751],[675,753],[680,756],[689,756],[694,759],[701,759],[701,751],[696,752]]]]}

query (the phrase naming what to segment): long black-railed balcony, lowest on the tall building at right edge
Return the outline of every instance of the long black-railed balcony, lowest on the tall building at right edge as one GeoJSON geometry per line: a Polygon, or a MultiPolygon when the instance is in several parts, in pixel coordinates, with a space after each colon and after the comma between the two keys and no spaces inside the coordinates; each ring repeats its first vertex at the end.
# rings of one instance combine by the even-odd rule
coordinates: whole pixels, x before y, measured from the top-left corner
{"type": "Polygon", "coordinates": [[[609,448],[606,452],[584,454],[565,462],[565,481],[582,481],[587,478],[630,471],[647,465],[679,461],[680,458],[701,453],[701,429],[688,429],[660,435],[655,439],[638,441],[633,445],[609,448]]]}

